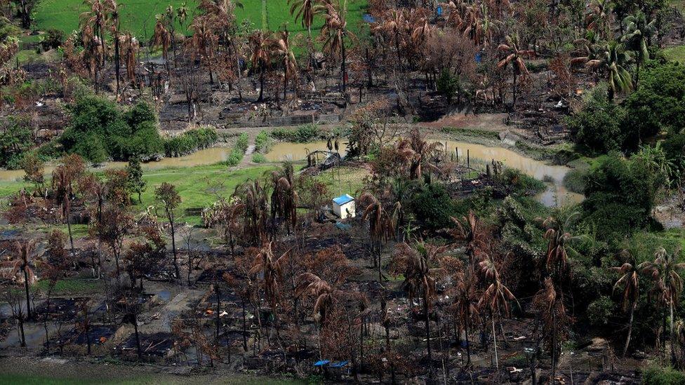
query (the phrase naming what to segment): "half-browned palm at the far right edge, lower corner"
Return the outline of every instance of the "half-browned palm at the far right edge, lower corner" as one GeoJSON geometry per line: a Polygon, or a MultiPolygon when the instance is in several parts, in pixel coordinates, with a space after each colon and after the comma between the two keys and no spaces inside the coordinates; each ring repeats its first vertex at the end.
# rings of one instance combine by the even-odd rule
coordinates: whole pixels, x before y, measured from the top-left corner
{"type": "MultiPolygon", "coordinates": [[[[667,252],[664,248],[659,248],[654,254],[654,262],[646,265],[652,272],[655,289],[658,293],[660,302],[668,306],[670,312],[670,341],[671,341],[671,360],[675,363],[673,325],[674,307],[677,306],[680,293],[683,290],[683,280],[680,271],[685,269],[685,263],[678,262],[680,250],[667,252]]],[[[665,318],[665,312],[664,312],[665,318]]]]}

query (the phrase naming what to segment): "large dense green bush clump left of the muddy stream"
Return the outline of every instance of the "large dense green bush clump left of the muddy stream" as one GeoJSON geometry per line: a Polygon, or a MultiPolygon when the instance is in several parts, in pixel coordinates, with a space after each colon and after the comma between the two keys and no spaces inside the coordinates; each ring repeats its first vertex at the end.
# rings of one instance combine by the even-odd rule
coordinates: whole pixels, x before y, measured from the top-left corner
{"type": "Polygon", "coordinates": [[[69,154],[91,162],[108,158],[126,161],[131,156],[151,156],[164,151],[152,106],[138,102],[128,111],[103,97],[85,96],[67,107],[71,122],[60,137],[69,154]]]}

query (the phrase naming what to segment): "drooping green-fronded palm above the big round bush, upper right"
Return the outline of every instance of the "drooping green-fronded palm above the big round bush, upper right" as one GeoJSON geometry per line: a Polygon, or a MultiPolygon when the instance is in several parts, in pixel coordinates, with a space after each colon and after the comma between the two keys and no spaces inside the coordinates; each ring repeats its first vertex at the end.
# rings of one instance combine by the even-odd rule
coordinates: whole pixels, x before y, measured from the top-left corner
{"type": "Polygon", "coordinates": [[[630,55],[623,51],[616,41],[606,43],[599,48],[597,58],[588,60],[585,66],[608,76],[608,97],[613,100],[616,93],[627,93],[632,90],[632,76],[626,69],[630,55]]]}

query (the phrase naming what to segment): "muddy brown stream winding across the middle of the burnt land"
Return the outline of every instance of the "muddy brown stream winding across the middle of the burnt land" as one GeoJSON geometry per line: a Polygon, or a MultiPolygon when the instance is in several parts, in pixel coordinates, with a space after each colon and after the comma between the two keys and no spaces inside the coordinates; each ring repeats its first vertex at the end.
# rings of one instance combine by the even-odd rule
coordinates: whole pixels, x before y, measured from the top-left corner
{"type": "MultiPolygon", "coordinates": [[[[571,170],[566,166],[551,166],[543,161],[536,161],[533,158],[522,156],[515,151],[503,147],[487,147],[481,144],[457,142],[454,140],[441,140],[440,142],[443,144],[443,149],[448,151],[448,154],[456,154],[455,149],[457,149],[459,160],[463,163],[466,162],[468,153],[473,166],[477,166],[479,163],[481,165],[489,163],[494,159],[495,161],[503,162],[507,167],[517,168],[539,180],[547,177],[552,182],[548,183],[546,191],[537,196],[538,201],[547,206],[566,205],[583,200],[583,195],[568,191],[564,187],[564,175],[568,173],[568,170],[571,170]]],[[[326,142],[279,142],[274,144],[269,153],[266,154],[266,158],[272,162],[299,161],[306,158],[307,153],[317,150],[327,151],[326,142]]],[[[162,168],[207,166],[225,161],[230,151],[231,149],[227,147],[213,147],[196,151],[187,156],[163,158],[158,162],[143,163],[142,168],[143,170],[159,170],[162,168]]],[[[345,151],[347,151],[347,146],[344,142],[341,142],[340,153],[345,154],[345,151]]],[[[102,168],[123,168],[125,166],[125,162],[107,162],[102,168]]],[[[52,173],[53,168],[54,166],[46,166],[46,174],[52,173]]],[[[20,180],[23,176],[23,170],[0,170],[0,182],[20,180]]]]}

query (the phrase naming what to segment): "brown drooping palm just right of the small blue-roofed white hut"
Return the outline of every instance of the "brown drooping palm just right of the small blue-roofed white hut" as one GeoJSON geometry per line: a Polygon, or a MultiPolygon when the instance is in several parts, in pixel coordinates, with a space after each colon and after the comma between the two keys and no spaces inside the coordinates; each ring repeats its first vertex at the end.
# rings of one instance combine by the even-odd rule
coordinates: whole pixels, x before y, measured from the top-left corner
{"type": "Polygon", "coordinates": [[[371,257],[373,257],[373,267],[378,267],[378,281],[383,279],[381,273],[381,248],[392,234],[392,218],[383,208],[383,204],[370,192],[365,192],[359,196],[359,204],[364,208],[364,215],[361,220],[368,220],[368,237],[371,240],[371,257]],[[378,258],[378,259],[376,259],[378,258]]]}

